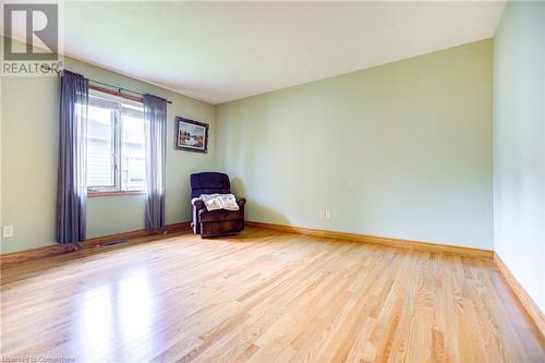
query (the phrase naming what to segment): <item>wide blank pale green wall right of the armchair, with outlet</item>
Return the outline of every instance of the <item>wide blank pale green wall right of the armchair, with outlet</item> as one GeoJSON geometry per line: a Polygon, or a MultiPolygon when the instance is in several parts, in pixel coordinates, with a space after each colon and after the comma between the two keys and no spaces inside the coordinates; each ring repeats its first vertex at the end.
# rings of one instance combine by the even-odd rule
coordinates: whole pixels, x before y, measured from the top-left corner
{"type": "Polygon", "coordinates": [[[484,40],[220,105],[217,165],[250,220],[492,249],[492,55],[484,40]]]}

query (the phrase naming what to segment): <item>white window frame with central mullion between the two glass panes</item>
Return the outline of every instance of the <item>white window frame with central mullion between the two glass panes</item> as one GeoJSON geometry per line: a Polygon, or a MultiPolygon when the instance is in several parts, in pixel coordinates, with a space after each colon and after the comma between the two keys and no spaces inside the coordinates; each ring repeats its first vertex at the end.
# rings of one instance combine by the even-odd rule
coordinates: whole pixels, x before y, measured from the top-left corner
{"type": "MultiPolygon", "coordinates": [[[[113,112],[113,133],[112,133],[112,150],[113,150],[113,180],[114,185],[104,185],[104,186],[87,186],[87,196],[113,196],[113,195],[143,195],[146,194],[146,190],[123,190],[122,189],[122,168],[121,168],[121,159],[122,159],[122,108],[123,108],[123,99],[130,100],[132,102],[143,104],[142,98],[133,97],[130,95],[125,95],[119,92],[110,90],[108,88],[89,85],[89,90],[94,90],[95,93],[106,94],[104,96],[105,102],[111,102],[116,107],[110,109],[113,112]],[[113,96],[113,97],[111,97],[113,96]],[[122,98],[122,99],[116,99],[122,98]],[[116,109],[117,108],[117,109],[116,109]]],[[[126,102],[129,104],[129,102],[126,102]]]]}

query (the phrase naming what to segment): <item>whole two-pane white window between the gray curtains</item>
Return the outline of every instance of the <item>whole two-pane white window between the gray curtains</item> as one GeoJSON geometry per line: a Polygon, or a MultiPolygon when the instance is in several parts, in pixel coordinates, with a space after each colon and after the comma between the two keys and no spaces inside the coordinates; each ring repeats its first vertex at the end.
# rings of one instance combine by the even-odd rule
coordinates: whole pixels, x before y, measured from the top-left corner
{"type": "Polygon", "coordinates": [[[144,109],[141,102],[89,89],[87,190],[146,190],[144,109]]]}

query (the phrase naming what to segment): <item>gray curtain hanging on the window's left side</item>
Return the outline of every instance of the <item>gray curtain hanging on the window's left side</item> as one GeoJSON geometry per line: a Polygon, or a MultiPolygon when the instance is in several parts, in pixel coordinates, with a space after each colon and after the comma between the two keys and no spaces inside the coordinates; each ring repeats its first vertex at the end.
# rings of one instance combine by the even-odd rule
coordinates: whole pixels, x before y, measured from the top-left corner
{"type": "Polygon", "coordinates": [[[88,80],[63,71],[60,88],[57,242],[68,244],[85,240],[88,80]]]}

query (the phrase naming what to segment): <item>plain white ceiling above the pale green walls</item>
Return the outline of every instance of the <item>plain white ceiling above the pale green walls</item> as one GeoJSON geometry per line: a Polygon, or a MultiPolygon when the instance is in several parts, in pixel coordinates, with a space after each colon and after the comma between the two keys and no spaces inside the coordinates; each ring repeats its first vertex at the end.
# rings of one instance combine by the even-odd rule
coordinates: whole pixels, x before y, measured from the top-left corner
{"type": "Polygon", "coordinates": [[[65,52],[220,104],[494,36],[493,2],[66,2],[65,52]]]}

